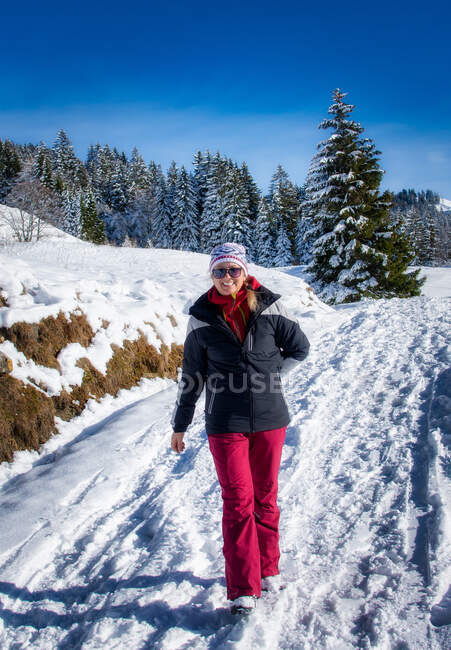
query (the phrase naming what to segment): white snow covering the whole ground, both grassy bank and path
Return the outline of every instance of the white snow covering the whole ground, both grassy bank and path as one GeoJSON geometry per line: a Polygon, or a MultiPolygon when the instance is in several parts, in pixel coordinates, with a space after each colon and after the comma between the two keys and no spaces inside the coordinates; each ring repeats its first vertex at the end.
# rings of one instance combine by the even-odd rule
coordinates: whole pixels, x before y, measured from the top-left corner
{"type": "MultiPolygon", "coordinates": [[[[6,268],[18,301],[11,320],[76,304],[97,326],[111,319],[111,340],[148,318],[183,340],[187,309],[209,286],[196,253],[59,240],[0,254],[0,286],[6,268]]],[[[286,588],[245,620],[228,613],[202,398],[176,456],[176,384],[143,380],[0,466],[2,648],[449,647],[451,270],[423,269],[424,296],[335,309],[300,267],[251,273],[283,294],[312,343],[284,380],[286,588]]],[[[69,377],[80,351],[64,354],[69,377]]],[[[23,362],[22,376],[31,371],[23,362]]]]}

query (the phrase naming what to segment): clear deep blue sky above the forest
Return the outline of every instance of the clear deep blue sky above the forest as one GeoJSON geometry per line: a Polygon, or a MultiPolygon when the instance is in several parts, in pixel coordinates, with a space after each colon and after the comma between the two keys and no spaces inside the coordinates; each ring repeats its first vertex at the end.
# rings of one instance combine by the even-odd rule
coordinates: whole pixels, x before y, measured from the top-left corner
{"type": "Polygon", "coordinates": [[[384,187],[451,198],[448,3],[21,3],[0,39],[0,138],[77,154],[108,143],[167,168],[198,149],[245,160],[266,190],[302,183],[336,87],[382,151],[384,187]]]}

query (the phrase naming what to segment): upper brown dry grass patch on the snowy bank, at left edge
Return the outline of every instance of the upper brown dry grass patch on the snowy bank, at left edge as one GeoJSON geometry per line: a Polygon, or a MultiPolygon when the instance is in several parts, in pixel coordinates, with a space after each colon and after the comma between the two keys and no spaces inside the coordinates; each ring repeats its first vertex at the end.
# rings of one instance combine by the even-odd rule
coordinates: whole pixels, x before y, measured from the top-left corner
{"type": "Polygon", "coordinates": [[[11,327],[0,328],[0,335],[11,341],[23,352],[27,359],[48,368],[58,368],[56,359],[69,343],[80,343],[87,347],[94,337],[85,314],[74,313],[67,319],[60,312],[55,318],[49,316],[39,323],[14,323],[11,327]]]}

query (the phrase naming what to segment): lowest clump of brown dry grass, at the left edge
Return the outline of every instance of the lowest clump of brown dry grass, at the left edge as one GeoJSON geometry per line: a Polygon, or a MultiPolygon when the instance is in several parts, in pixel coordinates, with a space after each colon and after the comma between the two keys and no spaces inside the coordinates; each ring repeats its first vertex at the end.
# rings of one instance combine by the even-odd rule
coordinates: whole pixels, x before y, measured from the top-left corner
{"type": "Polygon", "coordinates": [[[15,451],[38,449],[55,433],[55,407],[37,388],[5,375],[0,377],[0,462],[15,451]]]}

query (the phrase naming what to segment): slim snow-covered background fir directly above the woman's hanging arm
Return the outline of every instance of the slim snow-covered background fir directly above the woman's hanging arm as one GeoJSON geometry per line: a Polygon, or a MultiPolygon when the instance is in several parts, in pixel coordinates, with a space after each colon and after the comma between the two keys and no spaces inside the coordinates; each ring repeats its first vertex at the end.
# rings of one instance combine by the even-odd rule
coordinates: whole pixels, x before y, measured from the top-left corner
{"type": "Polygon", "coordinates": [[[175,190],[173,245],[178,250],[199,250],[199,215],[192,177],[182,166],[175,190]]]}

